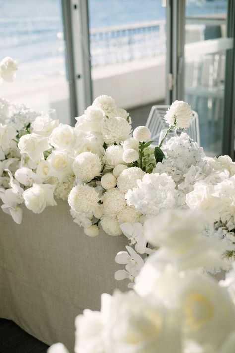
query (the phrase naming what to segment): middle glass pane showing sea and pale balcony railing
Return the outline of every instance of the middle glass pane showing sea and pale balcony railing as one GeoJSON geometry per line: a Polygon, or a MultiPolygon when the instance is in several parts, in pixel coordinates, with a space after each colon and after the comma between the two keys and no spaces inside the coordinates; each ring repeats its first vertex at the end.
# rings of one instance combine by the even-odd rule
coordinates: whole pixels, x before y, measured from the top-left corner
{"type": "Polygon", "coordinates": [[[89,0],[93,97],[112,96],[133,126],[165,99],[166,14],[162,0],[89,0]]]}

